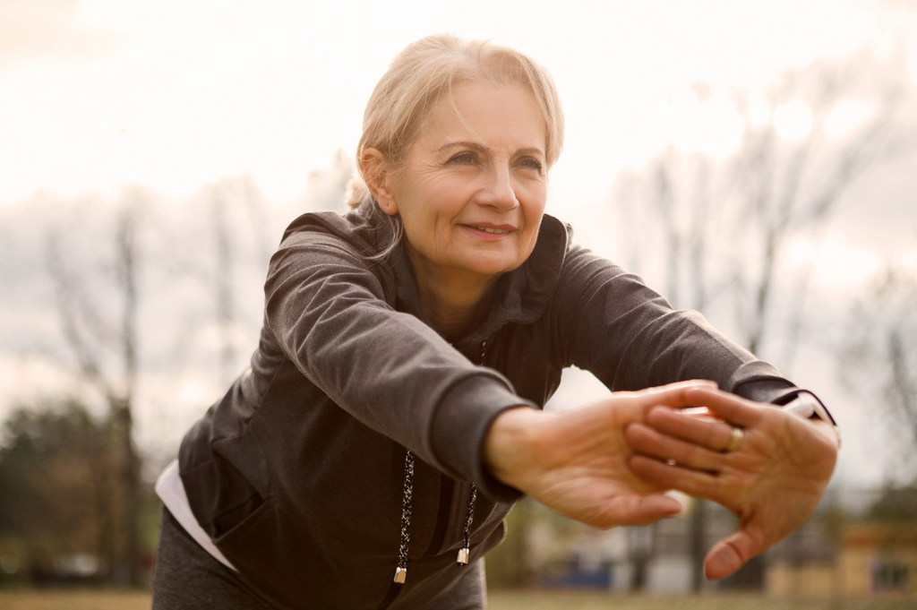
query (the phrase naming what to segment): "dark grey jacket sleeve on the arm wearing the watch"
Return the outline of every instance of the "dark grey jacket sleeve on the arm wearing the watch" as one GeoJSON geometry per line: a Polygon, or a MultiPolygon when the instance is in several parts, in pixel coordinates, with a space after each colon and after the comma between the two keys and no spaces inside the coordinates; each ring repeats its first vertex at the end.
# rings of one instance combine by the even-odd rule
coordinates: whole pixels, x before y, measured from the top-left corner
{"type": "Polygon", "coordinates": [[[553,321],[569,363],[611,390],[708,379],[726,392],[783,404],[799,389],[725,338],[696,311],[675,310],[640,278],[589,250],[571,248],[553,321]]]}

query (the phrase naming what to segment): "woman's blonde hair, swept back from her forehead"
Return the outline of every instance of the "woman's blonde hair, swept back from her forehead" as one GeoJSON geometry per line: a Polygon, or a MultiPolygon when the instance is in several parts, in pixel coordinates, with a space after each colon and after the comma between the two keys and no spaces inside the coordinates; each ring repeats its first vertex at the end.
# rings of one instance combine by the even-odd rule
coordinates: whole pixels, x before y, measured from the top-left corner
{"type": "Polygon", "coordinates": [[[531,90],[547,125],[547,168],[558,160],[563,149],[564,116],[557,87],[543,66],[525,53],[489,40],[465,40],[452,34],[427,36],[395,56],[370,95],[363,114],[356,172],[348,185],[350,207],[357,207],[369,194],[360,162],[363,151],[380,150],[387,168],[397,172],[433,106],[443,94],[451,95],[453,86],[462,81],[522,85],[531,90]]]}

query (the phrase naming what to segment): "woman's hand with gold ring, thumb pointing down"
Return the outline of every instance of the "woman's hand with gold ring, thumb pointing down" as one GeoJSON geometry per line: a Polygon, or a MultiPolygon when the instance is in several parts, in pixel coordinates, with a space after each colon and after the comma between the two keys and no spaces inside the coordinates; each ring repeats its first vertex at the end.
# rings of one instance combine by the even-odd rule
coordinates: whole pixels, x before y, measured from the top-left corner
{"type": "Polygon", "coordinates": [[[646,482],[713,500],[739,518],[735,534],[704,560],[707,578],[719,580],[812,516],[834,471],[839,439],[830,424],[718,390],[688,390],[686,403],[706,405],[725,422],[654,409],[645,425],[625,432],[640,454],[628,465],[646,482]],[[745,438],[724,453],[730,424],[743,427],[745,438]]]}

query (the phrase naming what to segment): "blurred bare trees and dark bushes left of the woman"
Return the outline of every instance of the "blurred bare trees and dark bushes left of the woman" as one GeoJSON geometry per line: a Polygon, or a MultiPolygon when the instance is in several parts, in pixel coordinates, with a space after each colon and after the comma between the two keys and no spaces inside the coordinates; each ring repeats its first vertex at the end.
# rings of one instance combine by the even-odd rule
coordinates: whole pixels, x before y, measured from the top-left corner
{"type": "MultiPolygon", "coordinates": [[[[327,209],[331,198],[342,205],[348,163],[339,152],[330,171],[312,172],[295,212],[327,209]]],[[[39,394],[4,423],[0,584],[144,584],[159,525],[152,479],[178,448],[138,446],[138,403],[156,400],[152,379],[203,375],[215,390],[193,421],[243,371],[272,242],[292,217],[283,210],[282,224],[272,222],[245,176],[179,206],[138,186],[114,198],[39,195],[32,205],[25,221],[39,218],[53,296],[35,306],[60,325],[44,352],[72,380],[73,397],[39,394]]]]}

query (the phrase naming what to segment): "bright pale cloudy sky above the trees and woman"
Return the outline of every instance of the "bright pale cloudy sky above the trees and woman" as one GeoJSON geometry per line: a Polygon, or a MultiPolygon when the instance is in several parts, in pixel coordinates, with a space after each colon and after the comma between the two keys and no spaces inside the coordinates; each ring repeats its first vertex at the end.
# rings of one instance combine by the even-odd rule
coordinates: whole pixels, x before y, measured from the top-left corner
{"type": "MultiPolygon", "coordinates": [[[[613,240],[591,217],[620,172],[668,143],[713,158],[735,147],[728,100],[699,104],[687,94],[696,83],[760,89],[864,49],[897,58],[917,83],[917,2],[903,0],[0,0],[0,206],[125,183],[180,202],[240,174],[281,205],[337,150],[352,155],[392,56],[441,31],[498,39],[552,72],[568,134],[548,209],[609,256],[613,240]]],[[[781,135],[810,118],[782,108],[781,135]]],[[[839,129],[845,120],[856,113],[839,129]]],[[[892,167],[855,190],[912,193],[904,173],[892,167]]],[[[849,293],[889,257],[917,269],[917,224],[880,222],[900,214],[901,198],[877,201],[848,210],[817,247],[794,245],[801,259],[819,257],[823,289],[849,293]]],[[[806,374],[832,383],[825,364],[806,374]]],[[[573,394],[598,395],[591,383],[573,394]]],[[[854,463],[880,442],[848,453],[854,480],[880,476],[880,465],[854,463]]]]}

